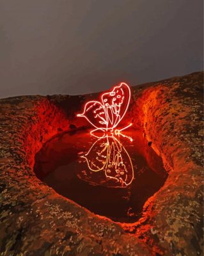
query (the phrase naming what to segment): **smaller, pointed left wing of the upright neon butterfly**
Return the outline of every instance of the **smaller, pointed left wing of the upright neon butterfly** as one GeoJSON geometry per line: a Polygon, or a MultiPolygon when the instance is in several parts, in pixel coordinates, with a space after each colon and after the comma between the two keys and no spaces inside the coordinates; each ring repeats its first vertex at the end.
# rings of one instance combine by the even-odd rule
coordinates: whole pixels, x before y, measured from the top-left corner
{"type": "Polygon", "coordinates": [[[89,101],[84,106],[84,112],[77,116],[85,117],[97,129],[106,129],[107,116],[104,106],[95,100],[89,101]]]}

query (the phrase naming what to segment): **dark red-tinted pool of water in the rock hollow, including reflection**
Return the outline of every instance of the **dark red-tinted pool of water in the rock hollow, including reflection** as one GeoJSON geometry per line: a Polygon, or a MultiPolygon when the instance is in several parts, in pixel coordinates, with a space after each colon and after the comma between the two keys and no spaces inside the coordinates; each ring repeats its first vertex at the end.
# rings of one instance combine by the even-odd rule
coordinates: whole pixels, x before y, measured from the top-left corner
{"type": "Polygon", "coordinates": [[[36,176],[60,195],[114,221],[134,222],[167,173],[140,131],[97,139],[88,131],[66,132],[35,156],[36,176]]]}

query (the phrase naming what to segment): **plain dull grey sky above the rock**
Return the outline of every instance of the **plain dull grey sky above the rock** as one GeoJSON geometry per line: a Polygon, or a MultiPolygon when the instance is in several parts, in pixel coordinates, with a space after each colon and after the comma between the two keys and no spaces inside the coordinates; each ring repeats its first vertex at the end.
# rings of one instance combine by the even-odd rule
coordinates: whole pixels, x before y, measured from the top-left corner
{"type": "Polygon", "coordinates": [[[203,69],[202,0],[0,0],[0,97],[203,69]]]}

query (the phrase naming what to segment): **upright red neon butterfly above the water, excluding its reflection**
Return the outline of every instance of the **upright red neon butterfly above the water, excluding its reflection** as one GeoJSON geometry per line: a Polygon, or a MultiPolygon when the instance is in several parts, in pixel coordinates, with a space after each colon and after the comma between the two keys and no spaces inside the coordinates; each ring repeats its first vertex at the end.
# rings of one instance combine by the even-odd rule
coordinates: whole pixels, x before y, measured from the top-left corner
{"type": "MultiPolygon", "coordinates": [[[[103,93],[100,99],[101,102],[96,100],[87,102],[84,106],[84,112],[77,115],[86,118],[96,128],[91,131],[93,136],[95,136],[93,132],[98,130],[112,132],[116,129],[129,107],[130,88],[126,83],[120,83],[118,86],[114,86],[111,92],[103,93]]],[[[127,125],[127,127],[130,125],[132,124],[127,125]]],[[[123,129],[114,132],[116,135],[120,135],[120,131],[123,129]]]]}

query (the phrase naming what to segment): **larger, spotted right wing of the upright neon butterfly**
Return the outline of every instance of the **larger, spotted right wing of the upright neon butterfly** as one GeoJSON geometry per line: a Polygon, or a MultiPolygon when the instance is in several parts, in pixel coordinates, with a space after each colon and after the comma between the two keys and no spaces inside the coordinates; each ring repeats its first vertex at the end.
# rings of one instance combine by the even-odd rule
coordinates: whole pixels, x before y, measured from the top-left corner
{"type": "Polygon", "coordinates": [[[107,129],[113,129],[127,112],[130,103],[130,88],[126,83],[120,83],[111,92],[102,94],[101,100],[106,111],[107,129]]]}

